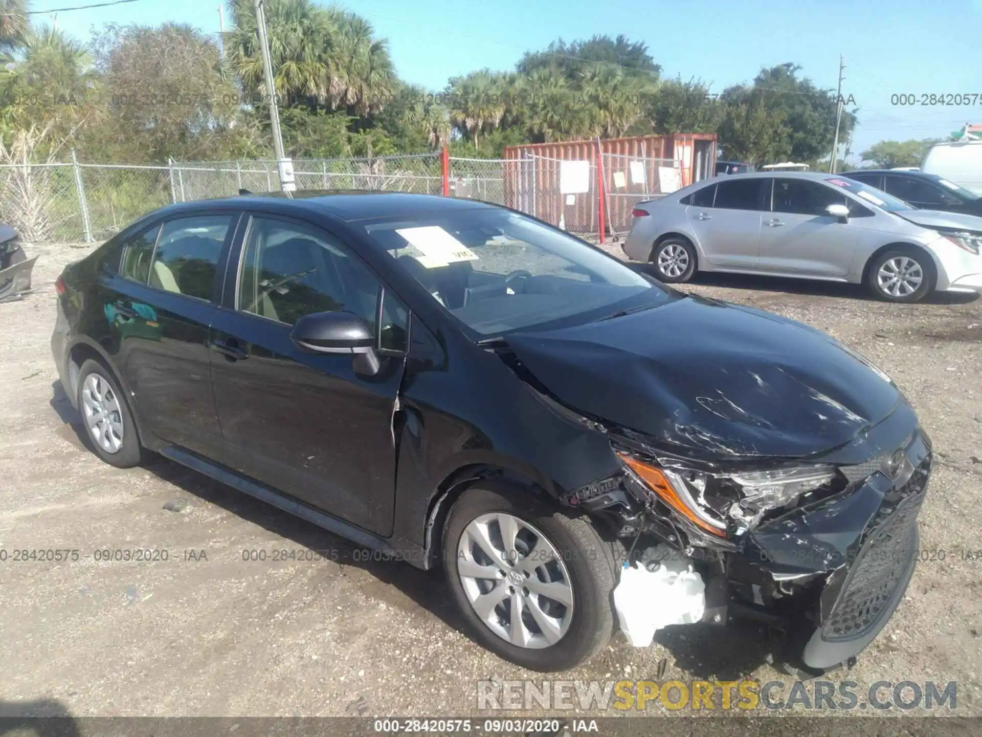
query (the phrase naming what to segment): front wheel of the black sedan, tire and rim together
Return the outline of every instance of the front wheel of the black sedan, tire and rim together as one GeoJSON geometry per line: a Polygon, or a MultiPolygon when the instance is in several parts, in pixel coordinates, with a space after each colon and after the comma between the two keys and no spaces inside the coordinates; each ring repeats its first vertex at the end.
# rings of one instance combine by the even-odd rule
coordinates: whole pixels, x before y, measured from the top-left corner
{"type": "Polygon", "coordinates": [[[443,536],[444,570],[464,619],[484,647],[529,670],[566,670],[599,652],[614,631],[612,593],[618,578],[612,544],[619,543],[601,539],[585,516],[564,514],[517,486],[478,482],[451,508],[443,536]],[[518,529],[517,541],[511,547],[518,552],[518,559],[511,565],[500,556],[504,548],[501,532],[510,520],[518,529]],[[477,544],[472,523],[488,531],[485,544],[490,540],[496,547],[499,563],[488,564],[492,558],[477,544]],[[494,575],[464,581],[462,568],[464,574],[476,571],[494,575]],[[510,573],[505,574],[505,570],[510,573]],[[518,586],[522,579],[526,586],[518,586]],[[527,586],[529,581],[535,582],[532,589],[527,586]],[[550,593],[562,596],[554,594],[557,598],[552,599],[533,591],[550,582],[550,593]],[[489,594],[491,599],[478,598],[476,604],[471,603],[472,597],[489,594]],[[559,603],[564,597],[572,607],[559,603]],[[516,598],[522,624],[518,642],[524,638],[524,645],[505,639],[515,632],[511,622],[516,598]],[[489,604],[494,601],[498,607],[491,608],[489,604]],[[477,606],[487,607],[486,619],[494,622],[496,629],[478,614],[477,606]],[[546,615],[548,626],[540,626],[543,620],[533,614],[533,609],[546,615]]]}

